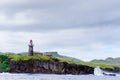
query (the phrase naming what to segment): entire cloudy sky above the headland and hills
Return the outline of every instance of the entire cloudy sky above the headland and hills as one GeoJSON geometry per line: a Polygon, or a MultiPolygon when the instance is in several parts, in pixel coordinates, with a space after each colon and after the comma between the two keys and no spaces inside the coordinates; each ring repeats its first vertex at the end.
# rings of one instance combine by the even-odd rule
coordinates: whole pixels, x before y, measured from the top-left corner
{"type": "Polygon", "coordinates": [[[120,57],[119,0],[0,0],[0,52],[120,57]]]}

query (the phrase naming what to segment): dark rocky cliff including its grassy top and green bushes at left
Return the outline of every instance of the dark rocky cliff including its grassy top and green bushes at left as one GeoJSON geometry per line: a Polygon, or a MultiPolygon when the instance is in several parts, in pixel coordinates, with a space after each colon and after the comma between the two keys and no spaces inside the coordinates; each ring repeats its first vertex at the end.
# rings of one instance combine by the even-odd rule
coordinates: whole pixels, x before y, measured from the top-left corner
{"type": "Polygon", "coordinates": [[[106,64],[75,61],[66,57],[49,55],[25,56],[21,54],[0,55],[0,72],[47,73],[47,74],[93,74],[94,67],[110,72],[120,72],[120,67],[106,64]]]}

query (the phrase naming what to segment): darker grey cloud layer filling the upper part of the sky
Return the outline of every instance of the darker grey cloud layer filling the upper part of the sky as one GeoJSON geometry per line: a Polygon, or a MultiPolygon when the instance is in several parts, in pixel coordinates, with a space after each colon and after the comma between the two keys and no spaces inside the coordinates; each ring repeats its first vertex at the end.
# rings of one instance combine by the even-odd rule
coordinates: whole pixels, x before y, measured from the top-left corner
{"type": "MultiPolygon", "coordinates": [[[[3,30],[48,31],[119,25],[119,1],[5,0],[1,1],[3,30]],[[28,3],[29,2],[29,3],[28,3]],[[26,27],[27,28],[24,28],[26,27]],[[30,29],[28,29],[28,27],[30,29]]],[[[1,30],[2,30],[1,29],[1,30]]]]}

